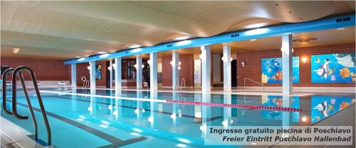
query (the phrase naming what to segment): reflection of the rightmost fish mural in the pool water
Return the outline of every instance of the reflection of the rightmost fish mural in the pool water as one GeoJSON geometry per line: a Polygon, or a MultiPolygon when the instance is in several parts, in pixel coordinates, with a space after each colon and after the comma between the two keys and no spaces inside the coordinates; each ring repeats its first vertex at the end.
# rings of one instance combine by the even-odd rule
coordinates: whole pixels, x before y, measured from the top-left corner
{"type": "Polygon", "coordinates": [[[312,96],[311,122],[317,123],[355,103],[355,98],[347,96],[312,96]]]}

